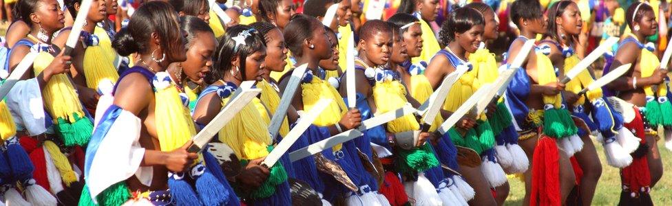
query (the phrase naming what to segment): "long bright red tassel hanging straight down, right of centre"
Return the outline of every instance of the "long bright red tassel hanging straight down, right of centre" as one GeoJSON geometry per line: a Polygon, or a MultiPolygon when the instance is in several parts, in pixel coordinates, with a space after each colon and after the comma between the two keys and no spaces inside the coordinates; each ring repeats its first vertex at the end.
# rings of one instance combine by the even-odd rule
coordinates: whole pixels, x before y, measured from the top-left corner
{"type": "Polygon", "coordinates": [[[532,196],[529,205],[561,205],[559,163],[555,139],[543,135],[532,158],[532,196]]]}

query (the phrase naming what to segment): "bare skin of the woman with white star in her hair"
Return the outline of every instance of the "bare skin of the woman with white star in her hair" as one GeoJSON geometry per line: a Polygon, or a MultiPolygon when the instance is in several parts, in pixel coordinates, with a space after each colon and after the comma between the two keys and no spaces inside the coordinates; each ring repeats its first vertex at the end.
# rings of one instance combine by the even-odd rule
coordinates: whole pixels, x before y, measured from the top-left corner
{"type": "MultiPolygon", "coordinates": [[[[229,71],[223,71],[224,78],[222,78],[222,81],[231,82],[239,86],[244,80],[262,80],[267,71],[263,66],[264,59],[266,58],[265,51],[266,47],[262,47],[262,49],[247,56],[244,60],[246,79],[242,78],[241,71],[234,72],[233,75],[231,75],[231,72],[229,71]]],[[[238,67],[240,63],[240,56],[235,56],[233,60],[231,60],[231,68],[238,67]]],[[[213,83],[213,85],[221,86],[222,82],[218,81],[213,83]]],[[[193,119],[196,119],[196,122],[199,124],[206,125],[220,112],[221,109],[222,100],[216,93],[209,93],[204,95],[198,104],[196,104],[196,108],[193,112],[193,119]]],[[[246,157],[242,158],[245,159],[246,157]]],[[[266,178],[268,178],[270,174],[269,168],[261,165],[264,159],[265,157],[251,160],[243,169],[244,171],[241,171],[240,174],[233,177],[235,182],[238,183],[245,192],[255,190],[255,188],[262,185],[262,183],[266,181],[266,178]]]]}

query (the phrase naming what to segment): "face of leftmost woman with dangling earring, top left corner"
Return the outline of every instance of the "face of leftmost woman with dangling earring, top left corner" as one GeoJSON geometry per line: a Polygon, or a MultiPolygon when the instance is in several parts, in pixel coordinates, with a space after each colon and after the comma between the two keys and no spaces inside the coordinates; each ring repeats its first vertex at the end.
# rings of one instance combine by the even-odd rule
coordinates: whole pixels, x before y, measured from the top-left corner
{"type": "Polygon", "coordinates": [[[59,2],[56,0],[39,1],[34,13],[37,19],[39,19],[39,24],[48,32],[56,32],[64,26],[65,14],[63,14],[63,11],[59,7],[59,2]]]}

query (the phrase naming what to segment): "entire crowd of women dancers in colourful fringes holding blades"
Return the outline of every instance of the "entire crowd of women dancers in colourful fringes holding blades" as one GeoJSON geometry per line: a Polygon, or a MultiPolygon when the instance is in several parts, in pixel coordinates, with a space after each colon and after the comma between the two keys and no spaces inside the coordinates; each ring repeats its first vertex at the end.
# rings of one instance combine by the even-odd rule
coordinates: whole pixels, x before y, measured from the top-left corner
{"type": "Polygon", "coordinates": [[[288,0],[225,13],[214,1],[148,1],[116,21],[107,16],[117,1],[88,1],[78,14],[83,1],[16,3],[0,51],[0,78],[12,82],[0,102],[6,205],[503,205],[507,174],[525,182],[524,205],[591,205],[599,146],[620,168],[620,205],[653,205],[663,171],[656,142],[672,135],[664,49],[648,43],[665,19],[658,5],[629,6],[627,31],[602,53],[605,75],[631,66],[591,88],[594,69],[574,71],[591,52],[575,1],[513,1],[508,19],[519,36],[504,55],[489,43],[506,22],[480,2],[453,6],[434,31],[434,0],[402,0],[386,21],[359,18],[375,7],[349,0],[304,1],[300,14],[288,0]],[[79,16],[81,35],[69,45],[79,16]],[[28,72],[17,76],[21,67],[28,72]],[[491,86],[508,71],[487,108],[459,113],[500,89],[491,86]],[[192,137],[250,87],[260,93],[192,150],[192,137]],[[444,87],[447,95],[434,93],[444,87]],[[434,102],[437,110],[421,109],[434,102]],[[365,123],[409,106],[416,112],[365,123]],[[318,109],[305,130],[290,132],[318,109]],[[446,128],[451,117],[459,120],[446,128]],[[350,131],[361,135],[329,139],[350,131]],[[337,144],[319,148],[325,139],[337,144]],[[314,146],[313,155],[289,155],[314,146]]]}

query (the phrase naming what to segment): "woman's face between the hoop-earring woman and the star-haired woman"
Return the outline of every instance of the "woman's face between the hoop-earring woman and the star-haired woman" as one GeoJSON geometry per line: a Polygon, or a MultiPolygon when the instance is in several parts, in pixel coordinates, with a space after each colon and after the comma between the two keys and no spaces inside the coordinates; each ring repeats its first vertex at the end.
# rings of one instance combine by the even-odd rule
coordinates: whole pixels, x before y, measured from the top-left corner
{"type": "Polygon", "coordinates": [[[187,60],[182,62],[184,72],[191,82],[203,83],[203,77],[210,72],[212,56],[217,45],[215,35],[210,32],[198,32],[191,38],[191,45],[187,48],[187,60]]]}

